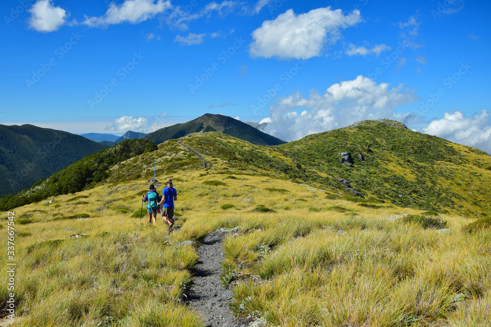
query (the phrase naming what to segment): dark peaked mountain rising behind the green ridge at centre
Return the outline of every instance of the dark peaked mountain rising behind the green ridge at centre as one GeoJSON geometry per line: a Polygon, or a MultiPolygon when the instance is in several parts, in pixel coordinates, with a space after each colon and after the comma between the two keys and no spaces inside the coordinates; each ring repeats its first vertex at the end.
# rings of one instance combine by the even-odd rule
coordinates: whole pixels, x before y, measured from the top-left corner
{"type": "Polygon", "coordinates": [[[160,144],[170,139],[178,139],[187,134],[201,131],[218,131],[257,145],[278,145],[286,143],[237,119],[214,114],[204,114],[184,124],[161,128],[147,134],[145,138],[155,144],[160,144]]]}

